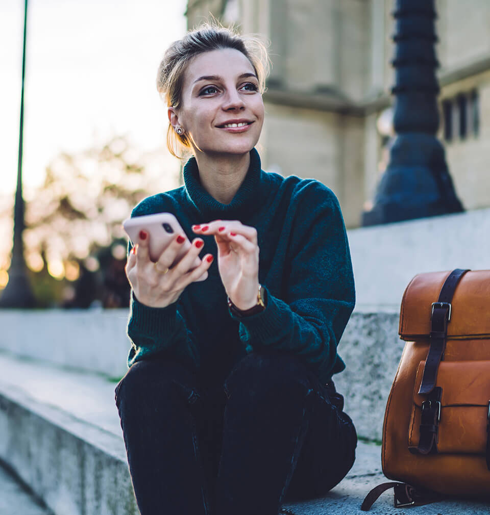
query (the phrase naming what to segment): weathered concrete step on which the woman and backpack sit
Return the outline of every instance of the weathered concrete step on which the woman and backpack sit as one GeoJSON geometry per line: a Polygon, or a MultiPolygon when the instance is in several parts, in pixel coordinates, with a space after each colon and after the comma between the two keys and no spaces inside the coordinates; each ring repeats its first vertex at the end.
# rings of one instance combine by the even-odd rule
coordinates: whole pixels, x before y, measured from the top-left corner
{"type": "MultiPolygon", "coordinates": [[[[55,515],[137,515],[115,382],[6,353],[0,353],[0,370],[0,459],[55,515]]],[[[360,442],[356,463],[340,485],[322,499],[286,507],[297,515],[362,513],[365,494],[385,480],[380,455],[378,445],[360,442]]],[[[422,509],[426,515],[483,515],[490,506],[444,502],[411,513],[422,509]]],[[[370,513],[400,510],[386,492],[370,513]]]]}

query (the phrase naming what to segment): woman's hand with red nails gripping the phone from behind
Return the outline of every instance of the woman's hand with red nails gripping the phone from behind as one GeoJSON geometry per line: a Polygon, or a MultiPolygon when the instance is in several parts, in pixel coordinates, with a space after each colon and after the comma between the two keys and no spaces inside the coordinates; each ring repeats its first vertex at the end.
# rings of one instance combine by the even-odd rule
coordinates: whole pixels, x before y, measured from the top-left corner
{"type": "Polygon", "coordinates": [[[150,260],[149,238],[146,231],[140,231],[138,244],[133,247],[127,259],[126,276],[139,302],[150,307],[167,307],[179,298],[187,285],[203,274],[207,276],[207,269],[213,263],[213,255],[206,254],[201,264],[189,271],[204,244],[201,238],[195,238],[187,253],[170,268],[185,236],[176,236],[156,263],[150,260]]]}

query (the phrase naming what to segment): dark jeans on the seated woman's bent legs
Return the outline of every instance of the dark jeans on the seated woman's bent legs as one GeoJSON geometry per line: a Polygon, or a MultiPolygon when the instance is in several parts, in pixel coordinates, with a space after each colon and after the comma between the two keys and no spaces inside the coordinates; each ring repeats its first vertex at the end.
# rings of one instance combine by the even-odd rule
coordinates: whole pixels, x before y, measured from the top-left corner
{"type": "Polygon", "coordinates": [[[354,462],[344,399],[285,354],[249,354],[206,389],[174,362],[137,362],[116,404],[141,515],[276,515],[354,462]]]}

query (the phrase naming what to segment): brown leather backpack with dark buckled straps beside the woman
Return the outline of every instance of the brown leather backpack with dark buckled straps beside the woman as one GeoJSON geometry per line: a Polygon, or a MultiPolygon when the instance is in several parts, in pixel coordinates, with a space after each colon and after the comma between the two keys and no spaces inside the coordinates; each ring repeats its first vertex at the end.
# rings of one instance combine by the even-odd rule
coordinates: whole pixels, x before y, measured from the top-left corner
{"type": "Polygon", "coordinates": [[[490,270],[422,273],[400,312],[406,340],[383,423],[395,506],[442,496],[490,499],[490,270]]]}

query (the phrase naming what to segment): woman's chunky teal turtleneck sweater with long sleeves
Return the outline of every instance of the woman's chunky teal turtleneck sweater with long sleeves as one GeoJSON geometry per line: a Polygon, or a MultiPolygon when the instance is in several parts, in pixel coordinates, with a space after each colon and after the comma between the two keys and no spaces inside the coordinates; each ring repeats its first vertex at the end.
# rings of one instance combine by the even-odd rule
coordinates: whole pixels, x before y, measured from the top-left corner
{"type": "MultiPolygon", "coordinates": [[[[144,199],[132,216],[173,213],[189,239],[195,237],[192,225],[215,219],[255,227],[265,311],[238,319],[228,310],[215,259],[208,278],[187,286],[167,307],[145,306],[132,296],[129,366],[168,356],[197,372],[204,385],[223,382],[250,352],[294,354],[322,382],[345,368],[337,345],[355,294],[338,201],[322,183],[267,173],[260,169],[255,149],[250,156],[247,176],[230,204],[204,190],[191,158],[184,168],[184,186],[144,199]]],[[[214,237],[202,237],[201,255],[216,258],[214,237]]]]}

